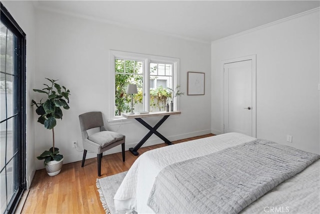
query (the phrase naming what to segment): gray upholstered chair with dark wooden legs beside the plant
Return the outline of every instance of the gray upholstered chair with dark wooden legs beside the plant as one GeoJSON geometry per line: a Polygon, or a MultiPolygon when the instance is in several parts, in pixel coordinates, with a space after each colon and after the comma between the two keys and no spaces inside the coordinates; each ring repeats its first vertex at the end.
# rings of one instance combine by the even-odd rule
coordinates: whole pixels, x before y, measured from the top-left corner
{"type": "Polygon", "coordinates": [[[83,157],[81,167],[84,165],[86,152],[95,152],[97,154],[98,176],[100,176],[102,152],[120,144],[122,146],[122,161],[124,162],[125,136],[117,132],[107,131],[103,124],[101,112],[87,112],[80,114],[79,121],[83,142],[83,157]],[[100,131],[89,136],[87,130],[97,127],[100,128],[100,131]]]}

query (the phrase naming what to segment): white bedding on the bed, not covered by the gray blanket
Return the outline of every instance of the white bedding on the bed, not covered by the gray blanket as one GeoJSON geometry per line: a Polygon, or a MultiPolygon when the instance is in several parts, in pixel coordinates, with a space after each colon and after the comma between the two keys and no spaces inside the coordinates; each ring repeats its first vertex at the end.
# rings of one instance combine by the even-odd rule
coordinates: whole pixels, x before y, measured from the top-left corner
{"type": "MultiPolygon", "coordinates": [[[[114,196],[115,208],[119,213],[155,213],[154,207],[152,209],[149,206],[150,192],[154,190],[156,179],[164,169],[202,156],[212,154],[217,156],[218,152],[246,145],[255,140],[239,133],[226,133],[145,152],[132,164],[118,188],[114,196]]],[[[312,155],[312,163],[308,163],[305,169],[267,190],[267,193],[263,193],[263,196],[244,206],[240,212],[319,213],[320,160],[319,155],[312,155]]],[[[170,199],[172,195],[169,193],[165,197],[170,199]]],[[[180,213],[176,210],[172,212],[180,213]]],[[[238,209],[234,211],[237,212],[238,209]]]]}

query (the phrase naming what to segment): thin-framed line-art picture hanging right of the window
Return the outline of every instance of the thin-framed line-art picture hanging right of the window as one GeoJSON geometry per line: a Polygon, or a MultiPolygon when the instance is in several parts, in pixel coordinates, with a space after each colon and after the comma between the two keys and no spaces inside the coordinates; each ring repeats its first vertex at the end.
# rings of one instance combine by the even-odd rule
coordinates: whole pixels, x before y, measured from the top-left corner
{"type": "Polygon", "coordinates": [[[204,95],[204,73],[187,73],[187,95],[204,95]]]}

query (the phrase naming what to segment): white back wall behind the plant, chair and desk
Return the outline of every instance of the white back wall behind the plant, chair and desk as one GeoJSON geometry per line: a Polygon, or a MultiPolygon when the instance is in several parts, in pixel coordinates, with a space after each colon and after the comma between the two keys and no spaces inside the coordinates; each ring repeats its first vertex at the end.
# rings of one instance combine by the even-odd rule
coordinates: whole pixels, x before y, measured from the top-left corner
{"type": "MultiPolygon", "coordinates": [[[[153,34],[102,22],[66,16],[48,11],[36,14],[36,76],[35,87],[41,88],[44,78],[58,79],[70,89],[70,109],[63,112],[63,120],[54,128],[56,146],[64,156],[64,163],[81,160],[82,152],[71,147],[71,141],[81,145],[78,115],[87,111],[102,111],[107,122],[110,96],[109,50],[119,50],[167,56],[180,59],[181,91],[186,92],[188,71],[205,72],[204,96],[181,96],[179,116],[170,116],[159,128],[169,140],[210,133],[210,44],[202,44],[153,34]]],[[[34,94],[33,97],[39,98],[34,94]]],[[[155,124],[160,118],[148,121],[155,124]]],[[[51,146],[51,131],[41,124],[35,126],[35,154],[51,146]]],[[[135,120],[130,123],[109,123],[111,130],[126,135],[126,149],[134,146],[147,129],[135,120]]],[[[151,136],[145,145],[161,143],[151,136]]],[[[120,146],[109,152],[119,152],[120,146]]],[[[96,157],[88,153],[87,158],[96,157]]],[[[36,161],[36,168],[42,168],[36,161]]]]}

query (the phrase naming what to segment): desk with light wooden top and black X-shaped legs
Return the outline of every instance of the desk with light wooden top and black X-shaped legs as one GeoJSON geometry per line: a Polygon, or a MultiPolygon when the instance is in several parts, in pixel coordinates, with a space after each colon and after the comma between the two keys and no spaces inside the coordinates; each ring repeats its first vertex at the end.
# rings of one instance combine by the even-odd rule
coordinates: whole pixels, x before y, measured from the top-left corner
{"type": "Polygon", "coordinates": [[[140,142],[138,144],[136,144],[136,146],[134,148],[129,148],[129,151],[133,154],[133,155],[139,155],[139,153],[137,152],[137,150],[143,145],[143,143],[145,143],[145,141],[152,135],[155,134],[156,136],[158,136],[161,140],[163,140],[166,144],[171,145],[172,143],[166,139],[162,134],[160,134],[158,131],[156,131],[157,128],[160,127],[160,125],[170,116],[173,114],[181,114],[180,111],[170,111],[170,112],[166,112],[166,111],[162,111],[162,112],[150,112],[148,114],[122,114],[123,117],[127,118],[127,119],[135,119],[136,121],[138,121],[139,123],[141,123],[144,127],[146,127],[147,129],[149,129],[150,131],[140,140],[140,142]],[[163,116],[162,119],[159,120],[159,122],[157,122],[157,124],[155,124],[154,127],[150,126],[149,124],[147,124],[144,120],[142,120],[142,118],[146,118],[146,117],[156,117],[156,116],[163,116]]]}

